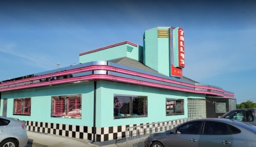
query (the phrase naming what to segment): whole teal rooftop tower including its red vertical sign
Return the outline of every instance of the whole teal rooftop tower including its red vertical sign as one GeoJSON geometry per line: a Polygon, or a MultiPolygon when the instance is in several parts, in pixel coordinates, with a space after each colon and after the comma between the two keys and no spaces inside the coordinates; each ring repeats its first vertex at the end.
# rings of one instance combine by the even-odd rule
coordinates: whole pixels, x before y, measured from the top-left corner
{"type": "Polygon", "coordinates": [[[184,31],[176,27],[156,27],[143,35],[143,63],[170,77],[182,77],[185,67],[184,31]]]}

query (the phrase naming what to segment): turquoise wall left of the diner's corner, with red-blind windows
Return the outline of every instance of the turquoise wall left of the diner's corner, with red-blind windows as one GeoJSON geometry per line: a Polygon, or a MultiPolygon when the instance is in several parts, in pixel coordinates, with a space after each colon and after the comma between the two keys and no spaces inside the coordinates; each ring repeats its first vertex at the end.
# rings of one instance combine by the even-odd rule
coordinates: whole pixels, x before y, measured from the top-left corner
{"type": "MultiPolygon", "coordinates": [[[[7,117],[18,118],[20,120],[93,126],[93,96],[93,82],[48,86],[41,88],[24,89],[19,91],[3,92],[1,106],[3,105],[3,99],[7,99],[7,117]],[[82,119],[51,117],[51,96],[69,94],[82,94],[82,119]],[[13,115],[13,99],[25,97],[31,97],[30,116],[13,115]]],[[[3,108],[1,107],[1,114],[3,113],[2,109],[3,108]]]]}

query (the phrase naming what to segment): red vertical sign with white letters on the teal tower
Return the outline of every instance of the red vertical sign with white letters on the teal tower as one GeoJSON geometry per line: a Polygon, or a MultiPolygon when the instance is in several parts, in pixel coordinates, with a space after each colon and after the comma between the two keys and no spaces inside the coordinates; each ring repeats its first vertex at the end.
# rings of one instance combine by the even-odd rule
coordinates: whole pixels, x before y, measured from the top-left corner
{"type": "Polygon", "coordinates": [[[182,28],[170,29],[171,76],[182,77],[185,67],[184,31],[182,28]]]}

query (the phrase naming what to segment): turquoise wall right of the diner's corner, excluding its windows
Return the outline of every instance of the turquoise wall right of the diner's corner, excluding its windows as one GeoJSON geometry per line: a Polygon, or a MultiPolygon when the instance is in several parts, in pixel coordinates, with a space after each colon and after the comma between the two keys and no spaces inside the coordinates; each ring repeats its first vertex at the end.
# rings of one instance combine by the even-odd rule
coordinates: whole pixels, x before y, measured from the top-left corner
{"type": "Polygon", "coordinates": [[[203,94],[97,81],[97,127],[154,123],[188,117],[187,98],[205,99],[203,94]],[[148,96],[148,117],[114,119],[114,94],[148,96]],[[184,99],[185,115],[166,116],[166,98],[184,99]]]}

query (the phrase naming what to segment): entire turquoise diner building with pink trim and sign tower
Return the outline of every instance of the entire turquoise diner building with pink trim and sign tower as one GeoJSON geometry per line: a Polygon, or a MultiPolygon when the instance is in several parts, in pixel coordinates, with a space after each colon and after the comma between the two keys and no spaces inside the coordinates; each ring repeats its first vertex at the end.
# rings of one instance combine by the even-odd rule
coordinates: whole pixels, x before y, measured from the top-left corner
{"type": "Polygon", "coordinates": [[[109,144],[129,127],[235,109],[233,92],[183,76],[182,28],[156,27],[142,39],[143,46],[124,41],[79,54],[75,66],[1,81],[0,114],[27,121],[33,132],[109,144]]]}

